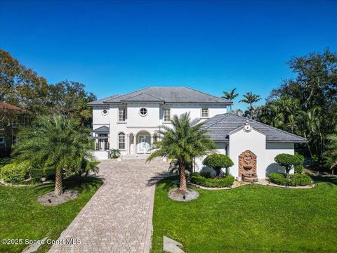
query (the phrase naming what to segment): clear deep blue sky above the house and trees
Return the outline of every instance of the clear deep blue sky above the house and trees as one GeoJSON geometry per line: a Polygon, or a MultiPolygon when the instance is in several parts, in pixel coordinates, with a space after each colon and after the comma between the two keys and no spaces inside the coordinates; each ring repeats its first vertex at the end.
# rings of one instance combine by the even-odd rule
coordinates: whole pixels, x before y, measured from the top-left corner
{"type": "Polygon", "coordinates": [[[0,47],[98,98],[145,86],[265,98],[291,56],[337,51],[336,13],[337,1],[0,0],[0,47]]]}

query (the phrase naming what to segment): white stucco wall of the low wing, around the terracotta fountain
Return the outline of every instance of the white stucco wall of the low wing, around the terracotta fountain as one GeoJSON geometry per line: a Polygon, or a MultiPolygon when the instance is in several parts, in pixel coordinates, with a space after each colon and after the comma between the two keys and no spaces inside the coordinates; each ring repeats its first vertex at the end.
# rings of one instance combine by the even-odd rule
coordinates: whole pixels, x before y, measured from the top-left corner
{"type": "MultiPolygon", "coordinates": [[[[246,150],[251,150],[256,155],[256,171],[259,179],[264,179],[265,176],[272,172],[284,173],[284,169],[275,163],[274,158],[281,153],[294,153],[294,143],[266,143],[265,134],[256,129],[249,132],[239,129],[230,134],[230,141],[227,147],[227,155],[234,162],[234,166],[230,167],[232,176],[239,176],[239,155],[246,150]]],[[[225,154],[225,145],[227,143],[216,143],[218,150],[216,152],[225,154]]],[[[196,159],[196,171],[208,171],[207,167],[202,165],[204,157],[196,159]]],[[[291,170],[293,173],[293,170],[291,170]]]]}

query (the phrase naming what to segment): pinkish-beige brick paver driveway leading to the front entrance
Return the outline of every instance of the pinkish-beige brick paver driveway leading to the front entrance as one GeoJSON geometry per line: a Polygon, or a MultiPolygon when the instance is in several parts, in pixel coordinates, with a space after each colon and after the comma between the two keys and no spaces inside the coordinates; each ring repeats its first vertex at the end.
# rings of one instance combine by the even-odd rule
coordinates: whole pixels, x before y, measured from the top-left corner
{"type": "Polygon", "coordinates": [[[59,238],[81,244],[53,245],[49,252],[149,252],[154,182],[169,163],[107,160],[98,167],[103,186],[59,238]]]}

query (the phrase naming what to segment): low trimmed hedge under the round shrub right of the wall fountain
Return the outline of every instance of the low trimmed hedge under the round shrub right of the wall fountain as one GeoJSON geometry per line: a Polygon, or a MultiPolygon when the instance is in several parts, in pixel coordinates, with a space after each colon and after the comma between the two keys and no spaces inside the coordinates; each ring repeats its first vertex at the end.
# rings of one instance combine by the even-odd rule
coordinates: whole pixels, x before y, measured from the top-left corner
{"type": "Polygon", "coordinates": [[[312,183],[310,176],[303,174],[292,174],[286,179],[284,174],[271,173],[269,180],[279,186],[308,186],[312,183]]]}

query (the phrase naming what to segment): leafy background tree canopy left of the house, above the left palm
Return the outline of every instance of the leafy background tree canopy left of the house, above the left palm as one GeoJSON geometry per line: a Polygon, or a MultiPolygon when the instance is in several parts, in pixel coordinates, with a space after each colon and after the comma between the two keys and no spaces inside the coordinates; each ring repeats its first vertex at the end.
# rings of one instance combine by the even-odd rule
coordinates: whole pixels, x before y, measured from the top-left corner
{"type": "MultiPolygon", "coordinates": [[[[0,49],[0,101],[29,111],[29,116],[64,115],[78,124],[91,124],[91,108],[87,103],[96,100],[84,90],[84,84],[64,81],[52,85],[44,77],[20,64],[10,53],[0,49]]],[[[32,121],[31,120],[31,121],[32,121]]]]}

